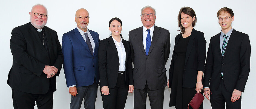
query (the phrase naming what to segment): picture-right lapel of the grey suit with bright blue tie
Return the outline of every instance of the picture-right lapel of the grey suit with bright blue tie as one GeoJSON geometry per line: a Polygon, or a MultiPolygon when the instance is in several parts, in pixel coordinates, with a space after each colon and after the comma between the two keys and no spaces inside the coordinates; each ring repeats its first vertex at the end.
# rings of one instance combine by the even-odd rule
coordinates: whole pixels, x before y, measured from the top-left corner
{"type": "Polygon", "coordinates": [[[153,36],[152,36],[151,45],[150,45],[150,48],[149,48],[149,51],[148,51],[148,55],[150,54],[150,52],[154,48],[154,46],[157,42],[157,39],[159,38],[160,33],[161,33],[160,28],[155,26],[153,36]]]}

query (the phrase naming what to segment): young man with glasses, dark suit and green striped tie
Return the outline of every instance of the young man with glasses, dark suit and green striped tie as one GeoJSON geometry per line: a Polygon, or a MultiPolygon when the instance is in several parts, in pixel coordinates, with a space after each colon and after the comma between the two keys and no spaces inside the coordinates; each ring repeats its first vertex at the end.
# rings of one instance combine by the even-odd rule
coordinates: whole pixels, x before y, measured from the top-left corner
{"type": "MultiPolygon", "coordinates": [[[[203,78],[204,89],[212,95],[212,109],[241,109],[241,94],[250,71],[251,45],[249,36],[231,27],[234,13],[221,8],[217,17],[221,32],[211,38],[203,78]]],[[[205,97],[209,99],[204,92],[205,97]]]]}

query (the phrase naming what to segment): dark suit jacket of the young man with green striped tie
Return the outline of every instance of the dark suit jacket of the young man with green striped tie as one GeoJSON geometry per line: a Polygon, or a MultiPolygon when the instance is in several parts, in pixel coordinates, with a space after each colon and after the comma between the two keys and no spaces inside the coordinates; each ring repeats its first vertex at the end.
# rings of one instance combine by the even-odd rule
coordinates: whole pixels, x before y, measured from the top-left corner
{"type": "Polygon", "coordinates": [[[224,57],[220,51],[220,33],[211,38],[204,74],[204,87],[216,91],[223,71],[224,84],[229,92],[245,90],[250,71],[251,45],[249,36],[233,29],[224,57]]]}

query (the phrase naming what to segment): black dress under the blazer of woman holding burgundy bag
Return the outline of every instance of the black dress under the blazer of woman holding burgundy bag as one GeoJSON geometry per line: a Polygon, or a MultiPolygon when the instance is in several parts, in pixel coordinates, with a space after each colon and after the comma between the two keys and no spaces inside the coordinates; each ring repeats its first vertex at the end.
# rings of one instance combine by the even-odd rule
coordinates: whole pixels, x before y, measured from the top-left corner
{"type": "MultiPolygon", "coordinates": [[[[171,95],[169,107],[175,106],[177,109],[187,109],[188,103],[191,101],[196,93],[195,88],[183,88],[183,71],[185,66],[185,58],[188,42],[191,36],[186,38],[180,37],[177,45],[174,48],[174,53],[177,54],[177,58],[173,65],[173,76],[171,84],[171,95]]],[[[202,109],[201,105],[199,109],[202,109]]],[[[192,109],[192,107],[189,107],[192,109]]]]}

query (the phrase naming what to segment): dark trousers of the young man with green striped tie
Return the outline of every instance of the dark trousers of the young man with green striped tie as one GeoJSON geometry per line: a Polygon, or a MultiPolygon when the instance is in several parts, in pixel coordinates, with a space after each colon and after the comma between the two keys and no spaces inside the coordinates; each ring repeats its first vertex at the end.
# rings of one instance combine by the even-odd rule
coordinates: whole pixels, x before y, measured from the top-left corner
{"type": "Polygon", "coordinates": [[[216,91],[211,91],[212,95],[210,96],[210,102],[212,109],[241,109],[241,99],[238,99],[235,102],[231,102],[232,92],[228,92],[225,85],[224,79],[220,80],[220,85],[216,91]]]}

